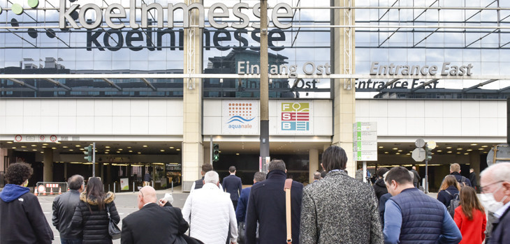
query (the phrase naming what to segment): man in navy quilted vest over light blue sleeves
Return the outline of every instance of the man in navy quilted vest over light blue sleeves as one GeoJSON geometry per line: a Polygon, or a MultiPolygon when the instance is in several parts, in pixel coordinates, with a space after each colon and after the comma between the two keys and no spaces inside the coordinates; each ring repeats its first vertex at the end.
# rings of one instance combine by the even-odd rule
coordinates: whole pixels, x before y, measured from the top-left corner
{"type": "Polygon", "coordinates": [[[385,204],[384,243],[459,243],[462,240],[444,204],[415,188],[405,167],[394,167],[384,181],[393,196],[385,204]]]}

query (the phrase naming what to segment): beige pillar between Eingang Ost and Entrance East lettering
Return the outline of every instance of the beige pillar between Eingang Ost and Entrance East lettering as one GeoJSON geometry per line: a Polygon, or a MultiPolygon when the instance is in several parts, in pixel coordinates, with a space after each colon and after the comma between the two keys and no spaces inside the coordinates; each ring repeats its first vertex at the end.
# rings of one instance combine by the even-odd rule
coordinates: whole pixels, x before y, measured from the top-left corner
{"type": "MultiPolygon", "coordinates": [[[[342,6],[340,1],[332,1],[335,6],[342,6]]],[[[351,1],[355,6],[355,1],[351,1]]],[[[351,19],[344,14],[343,9],[333,10],[335,12],[335,25],[354,24],[354,11],[351,11],[351,19]]],[[[332,73],[345,74],[355,73],[354,61],[354,29],[351,29],[350,36],[346,35],[345,29],[333,29],[333,61],[332,73]],[[349,38],[351,39],[349,41],[349,38]],[[349,45],[350,43],[350,45],[349,45]],[[349,65],[350,62],[350,65],[349,65]]],[[[353,150],[353,123],[356,122],[356,100],[354,79],[335,79],[332,84],[334,91],[333,98],[333,144],[341,146],[347,153],[347,171],[349,176],[354,177],[356,172],[356,161],[354,161],[353,150]]]]}

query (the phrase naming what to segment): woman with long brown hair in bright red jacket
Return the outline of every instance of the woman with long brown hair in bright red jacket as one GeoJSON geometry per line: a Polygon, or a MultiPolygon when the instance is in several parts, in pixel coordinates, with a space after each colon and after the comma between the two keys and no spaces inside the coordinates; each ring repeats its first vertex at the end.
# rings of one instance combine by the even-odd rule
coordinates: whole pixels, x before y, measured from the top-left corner
{"type": "Polygon", "coordinates": [[[460,206],[453,220],[462,234],[461,244],[480,244],[485,239],[486,213],[473,188],[460,189],[460,206]]]}

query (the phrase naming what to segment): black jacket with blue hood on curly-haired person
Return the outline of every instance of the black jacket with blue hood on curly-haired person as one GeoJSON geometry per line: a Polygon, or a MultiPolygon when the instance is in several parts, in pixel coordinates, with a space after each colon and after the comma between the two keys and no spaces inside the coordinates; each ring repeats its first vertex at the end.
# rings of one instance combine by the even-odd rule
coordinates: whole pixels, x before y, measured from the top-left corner
{"type": "Polygon", "coordinates": [[[0,243],[52,243],[53,231],[29,188],[7,184],[0,193],[0,243]]]}

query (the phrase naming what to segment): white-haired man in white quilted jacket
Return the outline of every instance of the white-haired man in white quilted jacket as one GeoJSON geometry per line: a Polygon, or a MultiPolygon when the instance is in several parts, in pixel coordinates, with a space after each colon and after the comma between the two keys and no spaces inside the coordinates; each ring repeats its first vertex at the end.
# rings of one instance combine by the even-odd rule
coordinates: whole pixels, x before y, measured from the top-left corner
{"type": "Polygon", "coordinates": [[[182,208],[189,224],[189,236],[205,244],[225,244],[230,224],[231,244],[238,239],[238,222],[230,195],[219,190],[216,171],[205,173],[201,189],[191,192],[182,208]]]}

